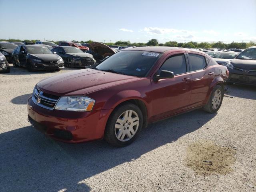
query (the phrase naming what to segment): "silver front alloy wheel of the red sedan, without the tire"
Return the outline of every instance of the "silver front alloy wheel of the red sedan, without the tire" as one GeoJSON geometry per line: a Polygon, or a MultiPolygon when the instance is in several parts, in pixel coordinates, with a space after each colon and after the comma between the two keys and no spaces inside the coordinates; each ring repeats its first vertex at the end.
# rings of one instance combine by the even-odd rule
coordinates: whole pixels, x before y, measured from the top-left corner
{"type": "Polygon", "coordinates": [[[136,134],[139,123],[138,114],[134,110],[126,110],[116,120],[116,138],[122,142],[130,140],[136,134]]]}

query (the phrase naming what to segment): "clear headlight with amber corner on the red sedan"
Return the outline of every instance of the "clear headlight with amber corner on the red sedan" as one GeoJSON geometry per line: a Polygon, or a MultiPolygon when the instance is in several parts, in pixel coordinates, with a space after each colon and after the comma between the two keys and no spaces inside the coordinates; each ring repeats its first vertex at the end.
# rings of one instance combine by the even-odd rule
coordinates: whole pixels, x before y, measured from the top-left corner
{"type": "Polygon", "coordinates": [[[58,100],[55,109],[64,111],[91,111],[95,100],[83,96],[66,96],[58,100]]]}

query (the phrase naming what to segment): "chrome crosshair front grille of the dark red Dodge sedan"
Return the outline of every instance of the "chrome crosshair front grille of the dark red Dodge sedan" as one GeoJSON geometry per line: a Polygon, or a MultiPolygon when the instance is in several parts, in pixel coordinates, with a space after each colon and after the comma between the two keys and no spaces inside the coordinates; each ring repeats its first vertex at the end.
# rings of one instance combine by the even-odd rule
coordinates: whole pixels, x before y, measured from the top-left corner
{"type": "Polygon", "coordinates": [[[48,94],[36,88],[34,89],[32,95],[32,100],[35,104],[51,110],[54,109],[54,106],[56,105],[59,98],[60,96],[48,94]]]}

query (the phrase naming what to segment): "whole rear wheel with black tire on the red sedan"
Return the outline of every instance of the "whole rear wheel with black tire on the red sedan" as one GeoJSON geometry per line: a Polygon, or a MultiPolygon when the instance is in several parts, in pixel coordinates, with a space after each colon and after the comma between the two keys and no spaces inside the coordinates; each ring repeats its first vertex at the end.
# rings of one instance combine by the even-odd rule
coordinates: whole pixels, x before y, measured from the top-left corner
{"type": "Polygon", "coordinates": [[[216,85],[212,90],[208,103],[203,106],[203,110],[208,113],[216,113],[222,104],[223,96],[222,86],[216,85]]]}

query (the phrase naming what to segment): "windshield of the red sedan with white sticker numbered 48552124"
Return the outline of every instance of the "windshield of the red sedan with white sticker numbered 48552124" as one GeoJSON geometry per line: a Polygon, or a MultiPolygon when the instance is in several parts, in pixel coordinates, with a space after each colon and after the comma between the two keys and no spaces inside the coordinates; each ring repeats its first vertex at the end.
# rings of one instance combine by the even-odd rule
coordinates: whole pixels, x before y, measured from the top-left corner
{"type": "Polygon", "coordinates": [[[98,70],[144,77],[161,56],[156,52],[120,51],[97,66],[98,70]]]}

